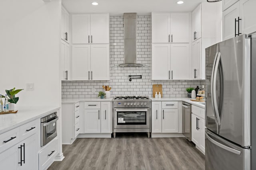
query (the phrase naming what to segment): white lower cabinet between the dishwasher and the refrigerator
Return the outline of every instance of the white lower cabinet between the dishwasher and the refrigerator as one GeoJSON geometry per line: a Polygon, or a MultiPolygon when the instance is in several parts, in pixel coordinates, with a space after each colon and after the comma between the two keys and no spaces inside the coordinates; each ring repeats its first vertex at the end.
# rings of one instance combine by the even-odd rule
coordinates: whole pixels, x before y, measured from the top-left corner
{"type": "Polygon", "coordinates": [[[191,136],[196,147],[205,153],[205,119],[204,109],[192,105],[191,107],[191,136]]]}

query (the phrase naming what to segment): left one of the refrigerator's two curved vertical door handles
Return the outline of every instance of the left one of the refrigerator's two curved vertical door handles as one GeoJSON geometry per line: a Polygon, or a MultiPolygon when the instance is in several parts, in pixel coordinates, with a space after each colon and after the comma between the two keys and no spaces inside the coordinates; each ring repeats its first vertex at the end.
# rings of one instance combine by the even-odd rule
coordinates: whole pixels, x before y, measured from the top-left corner
{"type": "Polygon", "coordinates": [[[212,91],[213,91],[213,104],[214,104],[214,112],[215,112],[215,116],[217,118],[217,123],[218,125],[220,125],[220,113],[218,110],[218,104],[217,104],[217,97],[216,97],[216,79],[217,79],[217,71],[218,71],[218,66],[220,64],[220,52],[218,52],[218,56],[216,59],[216,64],[215,64],[215,68],[214,68],[214,75],[213,75],[213,87],[212,87],[212,91]]]}

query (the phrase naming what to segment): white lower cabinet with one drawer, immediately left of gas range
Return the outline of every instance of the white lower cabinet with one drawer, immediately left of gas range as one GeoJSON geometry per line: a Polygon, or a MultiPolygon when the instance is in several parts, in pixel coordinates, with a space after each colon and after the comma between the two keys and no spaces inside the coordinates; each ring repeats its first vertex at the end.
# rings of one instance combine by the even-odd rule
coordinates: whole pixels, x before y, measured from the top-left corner
{"type": "Polygon", "coordinates": [[[111,102],[85,102],[84,132],[111,133],[111,102]]]}

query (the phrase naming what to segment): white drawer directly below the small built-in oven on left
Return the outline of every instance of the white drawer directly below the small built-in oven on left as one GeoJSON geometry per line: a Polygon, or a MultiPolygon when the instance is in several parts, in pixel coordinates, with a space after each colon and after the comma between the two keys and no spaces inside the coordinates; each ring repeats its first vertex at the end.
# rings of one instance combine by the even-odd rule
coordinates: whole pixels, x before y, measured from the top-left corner
{"type": "Polygon", "coordinates": [[[46,145],[43,150],[39,152],[39,170],[48,168],[58,154],[58,138],[52,140],[49,145],[46,145]]]}

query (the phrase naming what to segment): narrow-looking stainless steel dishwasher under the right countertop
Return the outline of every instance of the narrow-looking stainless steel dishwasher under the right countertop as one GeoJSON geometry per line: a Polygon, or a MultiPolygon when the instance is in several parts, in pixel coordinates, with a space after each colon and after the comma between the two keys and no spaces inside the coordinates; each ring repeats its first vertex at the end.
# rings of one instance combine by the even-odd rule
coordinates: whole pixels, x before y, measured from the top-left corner
{"type": "Polygon", "coordinates": [[[182,134],[191,141],[191,104],[182,102],[182,134]]]}

